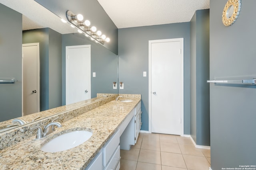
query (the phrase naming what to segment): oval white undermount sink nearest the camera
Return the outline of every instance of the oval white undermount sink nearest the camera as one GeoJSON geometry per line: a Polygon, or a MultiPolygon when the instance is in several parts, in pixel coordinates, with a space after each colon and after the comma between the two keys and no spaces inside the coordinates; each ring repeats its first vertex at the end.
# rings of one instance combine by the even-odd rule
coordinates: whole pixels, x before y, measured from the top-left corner
{"type": "Polygon", "coordinates": [[[44,152],[60,152],[68,150],[84,143],[92,133],[89,131],[72,131],[65,133],[47,142],[41,150],[44,152]]]}

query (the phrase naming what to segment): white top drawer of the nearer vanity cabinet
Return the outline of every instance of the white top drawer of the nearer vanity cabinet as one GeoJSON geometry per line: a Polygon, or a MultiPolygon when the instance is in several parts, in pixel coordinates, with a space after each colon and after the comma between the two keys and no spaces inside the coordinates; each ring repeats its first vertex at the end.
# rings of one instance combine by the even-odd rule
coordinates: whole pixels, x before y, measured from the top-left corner
{"type": "Polygon", "coordinates": [[[114,151],[120,143],[119,130],[113,135],[108,143],[103,147],[103,166],[106,166],[114,151]]]}

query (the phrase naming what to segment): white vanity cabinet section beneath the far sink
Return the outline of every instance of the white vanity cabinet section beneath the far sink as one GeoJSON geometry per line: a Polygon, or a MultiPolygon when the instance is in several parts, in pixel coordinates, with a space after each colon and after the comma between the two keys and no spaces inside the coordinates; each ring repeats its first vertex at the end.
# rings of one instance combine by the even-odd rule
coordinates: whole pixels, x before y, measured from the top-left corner
{"type": "Polygon", "coordinates": [[[121,149],[130,150],[131,145],[135,145],[137,143],[141,127],[141,113],[141,102],[139,102],[129,113],[129,115],[132,115],[132,118],[120,136],[121,149]]]}

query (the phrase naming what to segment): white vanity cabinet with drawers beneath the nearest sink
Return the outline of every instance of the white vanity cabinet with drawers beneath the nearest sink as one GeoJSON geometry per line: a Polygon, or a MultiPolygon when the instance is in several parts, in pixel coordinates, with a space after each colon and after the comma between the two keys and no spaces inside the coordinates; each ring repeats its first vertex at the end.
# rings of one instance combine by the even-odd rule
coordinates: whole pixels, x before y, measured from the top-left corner
{"type": "Polygon", "coordinates": [[[119,170],[120,168],[119,130],[104,145],[85,170],[119,170]]]}

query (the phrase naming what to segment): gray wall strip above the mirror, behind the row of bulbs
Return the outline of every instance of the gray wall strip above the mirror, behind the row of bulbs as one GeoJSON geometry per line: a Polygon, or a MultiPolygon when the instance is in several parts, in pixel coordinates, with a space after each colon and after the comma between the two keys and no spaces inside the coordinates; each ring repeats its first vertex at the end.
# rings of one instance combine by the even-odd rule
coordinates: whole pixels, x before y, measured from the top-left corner
{"type": "Polygon", "coordinates": [[[118,54],[118,29],[108,14],[100,6],[97,0],[35,0],[60,18],[66,19],[66,11],[70,10],[74,14],[82,14],[84,20],[89,20],[92,26],[96,26],[110,38],[109,43],[104,47],[118,54]]]}

